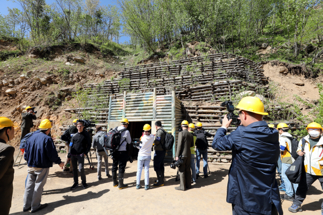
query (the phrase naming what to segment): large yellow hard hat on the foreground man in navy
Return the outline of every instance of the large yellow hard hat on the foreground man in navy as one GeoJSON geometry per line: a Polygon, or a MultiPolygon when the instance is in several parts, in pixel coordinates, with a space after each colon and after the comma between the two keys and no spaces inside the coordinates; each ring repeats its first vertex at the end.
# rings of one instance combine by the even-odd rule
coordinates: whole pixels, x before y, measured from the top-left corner
{"type": "Polygon", "coordinates": [[[246,96],[242,98],[237,106],[237,109],[249,111],[255,114],[268,115],[265,112],[263,102],[254,96],[246,96]]]}

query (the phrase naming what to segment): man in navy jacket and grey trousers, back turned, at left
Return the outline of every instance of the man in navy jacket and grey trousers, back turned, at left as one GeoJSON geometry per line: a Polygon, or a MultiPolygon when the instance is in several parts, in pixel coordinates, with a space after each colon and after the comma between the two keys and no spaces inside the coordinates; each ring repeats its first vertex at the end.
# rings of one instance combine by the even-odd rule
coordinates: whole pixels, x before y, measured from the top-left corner
{"type": "Polygon", "coordinates": [[[24,212],[31,210],[31,213],[35,213],[47,207],[47,203],[40,204],[40,202],[49,169],[53,167],[53,163],[60,167],[64,166],[58,157],[53,139],[48,136],[51,128],[50,120],[43,119],[39,125],[40,132],[30,136],[26,143],[25,160],[28,175],[24,194],[24,212]]]}

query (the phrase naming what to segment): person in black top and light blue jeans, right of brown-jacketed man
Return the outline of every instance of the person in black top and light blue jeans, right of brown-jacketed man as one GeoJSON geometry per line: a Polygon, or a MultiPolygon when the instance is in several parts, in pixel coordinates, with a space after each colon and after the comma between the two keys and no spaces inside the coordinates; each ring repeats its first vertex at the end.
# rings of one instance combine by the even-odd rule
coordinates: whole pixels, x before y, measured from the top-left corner
{"type": "Polygon", "coordinates": [[[196,130],[194,131],[196,135],[196,178],[200,176],[200,162],[201,157],[203,157],[203,174],[204,178],[209,177],[208,175],[208,148],[209,142],[208,137],[212,137],[212,134],[205,131],[202,128],[202,123],[196,123],[196,130]]]}

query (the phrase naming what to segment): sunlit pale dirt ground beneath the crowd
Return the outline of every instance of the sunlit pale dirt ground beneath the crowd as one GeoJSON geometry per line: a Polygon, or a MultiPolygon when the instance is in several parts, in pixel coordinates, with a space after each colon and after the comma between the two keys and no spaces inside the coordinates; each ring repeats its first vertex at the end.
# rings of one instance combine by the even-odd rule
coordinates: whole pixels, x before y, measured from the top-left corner
{"type": "MultiPolygon", "coordinates": [[[[66,154],[59,154],[64,159],[66,154]]],[[[64,159],[65,160],[65,159],[64,159]]],[[[163,187],[151,188],[145,191],[135,189],[137,161],[128,163],[125,172],[124,183],[127,189],[118,190],[112,186],[112,179],[103,174],[103,179],[97,180],[97,161],[93,160],[94,169],[89,169],[85,163],[86,180],[88,189],[81,186],[74,191],[70,190],[73,185],[73,177],[70,173],[62,172],[62,169],[54,164],[50,168],[47,184],[44,187],[41,203],[48,203],[48,207],[35,214],[118,214],[118,215],[209,215],[209,214],[232,214],[231,204],[226,203],[226,188],[230,165],[210,165],[211,175],[199,178],[196,185],[188,191],[176,191],[179,181],[175,182],[176,170],[165,165],[166,182],[163,187]]],[[[108,160],[111,174],[111,159],[108,160]]],[[[22,162],[23,163],[23,162],[22,162]]],[[[202,162],[201,162],[202,165],[202,162]]],[[[23,215],[29,212],[23,211],[23,196],[25,180],[27,176],[26,164],[15,166],[14,191],[12,198],[11,215],[23,215]]],[[[104,168],[103,168],[104,170],[104,168]]],[[[103,171],[104,173],[104,171],[103,171]]],[[[81,179],[79,178],[80,182],[81,179]]],[[[153,162],[150,163],[150,186],[156,180],[153,162]]],[[[144,185],[144,175],[141,175],[141,185],[144,185]]],[[[307,193],[303,203],[302,215],[320,214],[323,191],[319,181],[316,181],[307,193]]],[[[283,202],[285,215],[292,214],[288,207],[292,202],[283,202]]]]}

